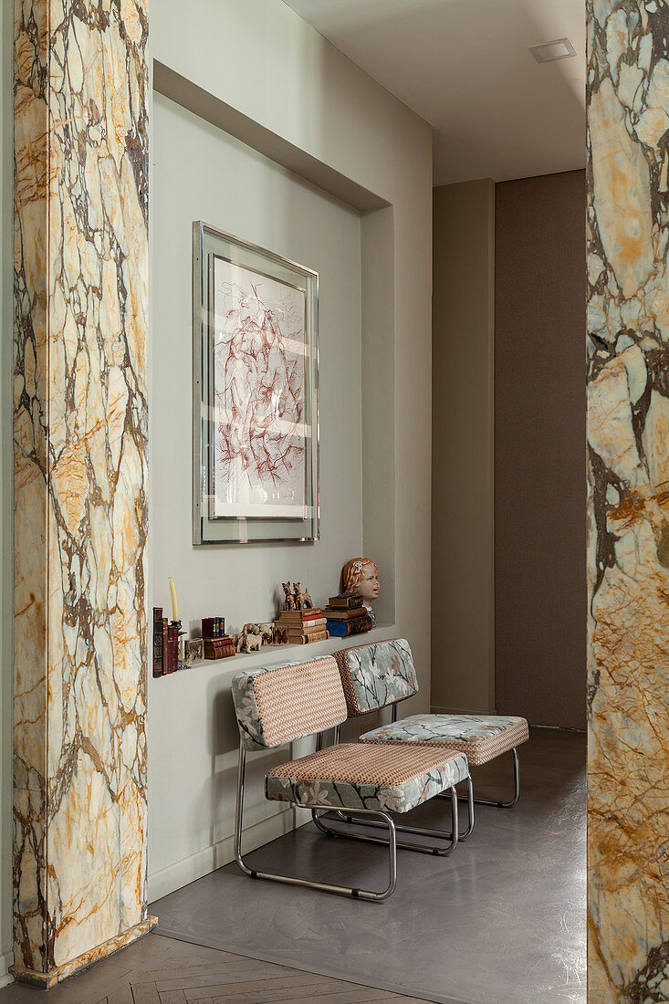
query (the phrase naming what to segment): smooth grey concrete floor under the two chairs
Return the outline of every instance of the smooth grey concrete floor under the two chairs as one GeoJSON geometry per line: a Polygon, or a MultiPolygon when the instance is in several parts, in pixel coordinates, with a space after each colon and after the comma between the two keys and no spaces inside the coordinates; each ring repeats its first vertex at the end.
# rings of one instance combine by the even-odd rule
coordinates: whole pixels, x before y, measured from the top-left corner
{"type": "MultiPolygon", "coordinates": [[[[532,729],[513,809],[477,806],[448,858],[400,850],[396,893],[364,903],[254,882],[236,864],[159,900],[159,932],[447,1004],[586,1001],[586,737],[532,729]]],[[[478,795],[508,790],[510,757],[475,768],[478,795]]],[[[448,825],[448,803],[411,813],[448,825]]],[[[405,817],[406,818],[406,817],[405,817]]],[[[309,823],[248,855],[259,869],[368,889],[384,848],[309,823]]]]}

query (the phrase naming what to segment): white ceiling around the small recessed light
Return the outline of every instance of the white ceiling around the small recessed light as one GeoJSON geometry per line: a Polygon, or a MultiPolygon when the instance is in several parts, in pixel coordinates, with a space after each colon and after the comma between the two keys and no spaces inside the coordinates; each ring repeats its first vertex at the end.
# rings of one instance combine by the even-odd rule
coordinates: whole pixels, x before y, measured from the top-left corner
{"type": "Polygon", "coordinates": [[[434,129],[434,184],[586,163],[584,0],[285,0],[434,129]],[[527,46],[567,37],[576,57],[527,46]]]}

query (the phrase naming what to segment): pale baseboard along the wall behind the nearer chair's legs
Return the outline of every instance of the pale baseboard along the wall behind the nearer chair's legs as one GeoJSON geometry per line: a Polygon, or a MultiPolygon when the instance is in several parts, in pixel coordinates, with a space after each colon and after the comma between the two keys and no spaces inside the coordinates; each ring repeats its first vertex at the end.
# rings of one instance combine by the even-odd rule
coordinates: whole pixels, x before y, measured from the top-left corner
{"type": "MultiPolygon", "coordinates": [[[[301,813],[300,813],[301,816],[301,813]]],[[[309,818],[304,813],[304,819],[297,818],[294,809],[286,809],[284,812],[277,812],[267,819],[244,827],[243,848],[244,853],[261,847],[263,843],[269,843],[284,833],[289,833],[291,829],[303,826],[309,818]]],[[[149,875],[149,903],[156,903],[164,896],[183,889],[184,886],[208,875],[217,868],[222,868],[224,864],[229,864],[235,859],[234,837],[224,837],[217,843],[210,844],[202,850],[196,851],[189,857],[182,857],[169,864],[159,871],[154,871],[149,875]]]]}

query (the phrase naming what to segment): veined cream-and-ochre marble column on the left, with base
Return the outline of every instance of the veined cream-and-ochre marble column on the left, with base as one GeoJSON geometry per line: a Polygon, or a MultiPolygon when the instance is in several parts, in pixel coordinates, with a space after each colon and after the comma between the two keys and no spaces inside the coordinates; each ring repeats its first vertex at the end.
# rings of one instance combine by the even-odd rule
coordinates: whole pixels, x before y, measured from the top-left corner
{"type": "Polygon", "coordinates": [[[147,916],[146,0],[16,0],[14,962],[147,916]]]}

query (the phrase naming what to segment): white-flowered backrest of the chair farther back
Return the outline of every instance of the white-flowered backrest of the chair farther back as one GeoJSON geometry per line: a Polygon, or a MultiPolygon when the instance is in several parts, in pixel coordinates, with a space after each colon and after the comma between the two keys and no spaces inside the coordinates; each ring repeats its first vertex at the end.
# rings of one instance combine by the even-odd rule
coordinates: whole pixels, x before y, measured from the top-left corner
{"type": "Polygon", "coordinates": [[[416,667],[404,638],[334,653],[349,716],[367,715],[418,693],[416,667]]]}

